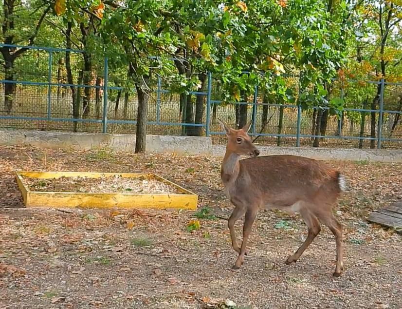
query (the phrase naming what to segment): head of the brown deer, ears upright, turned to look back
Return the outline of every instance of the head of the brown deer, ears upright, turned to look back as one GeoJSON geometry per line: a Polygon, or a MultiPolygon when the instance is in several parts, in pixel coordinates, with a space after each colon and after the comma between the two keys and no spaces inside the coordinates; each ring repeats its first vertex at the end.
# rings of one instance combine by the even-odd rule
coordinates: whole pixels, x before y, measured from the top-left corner
{"type": "Polygon", "coordinates": [[[259,150],[253,145],[250,136],[247,134],[251,127],[251,122],[247,123],[239,130],[232,129],[222,120],[218,119],[222,130],[227,136],[227,150],[237,155],[259,155],[259,150]]]}

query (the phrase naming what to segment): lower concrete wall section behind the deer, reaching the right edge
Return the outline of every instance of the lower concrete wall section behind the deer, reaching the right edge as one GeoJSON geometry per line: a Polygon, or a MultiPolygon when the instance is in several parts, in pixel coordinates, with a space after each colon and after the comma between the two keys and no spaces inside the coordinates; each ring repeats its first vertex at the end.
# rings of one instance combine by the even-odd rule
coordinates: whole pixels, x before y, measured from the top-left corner
{"type": "MultiPolygon", "coordinates": [[[[260,155],[301,155],[317,160],[346,160],[402,163],[402,149],[347,149],[257,146],[260,155]]],[[[223,156],[224,145],[213,145],[213,155],[223,156]]]]}

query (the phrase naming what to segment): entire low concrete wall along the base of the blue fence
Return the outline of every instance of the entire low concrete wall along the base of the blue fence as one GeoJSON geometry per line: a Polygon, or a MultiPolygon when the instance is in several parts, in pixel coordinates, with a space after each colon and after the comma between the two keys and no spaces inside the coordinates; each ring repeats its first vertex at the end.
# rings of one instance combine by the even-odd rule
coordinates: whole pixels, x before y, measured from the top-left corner
{"type": "MultiPolygon", "coordinates": [[[[10,130],[0,131],[0,145],[25,145],[50,149],[76,150],[110,148],[115,151],[133,152],[135,149],[135,135],[10,130]]],[[[210,137],[146,136],[146,151],[149,153],[223,156],[225,148],[225,145],[212,145],[210,137]]],[[[274,146],[258,146],[258,149],[261,155],[287,154],[307,156],[319,160],[402,162],[402,149],[378,150],[274,146]]]]}

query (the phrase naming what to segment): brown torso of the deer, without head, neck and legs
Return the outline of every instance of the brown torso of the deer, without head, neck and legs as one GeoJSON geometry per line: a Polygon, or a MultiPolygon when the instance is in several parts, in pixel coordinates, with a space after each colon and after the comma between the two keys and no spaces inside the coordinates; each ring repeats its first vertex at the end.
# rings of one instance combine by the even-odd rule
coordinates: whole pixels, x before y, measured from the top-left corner
{"type": "Polygon", "coordinates": [[[338,194],[339,173],[323,162],[295,155],[267,155],[239,161],[236,187],[267,208],[310,202],[319,192],[338,194]]]}

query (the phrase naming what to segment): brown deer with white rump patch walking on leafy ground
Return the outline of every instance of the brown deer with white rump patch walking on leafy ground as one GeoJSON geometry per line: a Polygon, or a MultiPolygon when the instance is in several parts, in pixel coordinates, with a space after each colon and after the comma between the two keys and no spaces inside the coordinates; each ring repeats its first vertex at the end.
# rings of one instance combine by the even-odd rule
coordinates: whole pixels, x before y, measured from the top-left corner
{"type": "Polygon", "coordinates": [[[300,212],[309,233],[300,248],[290,255],[286,264],[296,262],[321,231],[320,219],[336,240],[336,268],[333,275],[339,277],[343,270],[342,225],[335,219],[331,209],[338,196],[345,190],[342,174],[323,162],[295,155],[259,156],[247,134],[251,122],[240,130],[219,123],[227,135],[226,153],[223,158],[220,177],[226,195],[235,209],[228,226],[232,246],[238,259],[232,269],[239,269],[244,261],[247,240],[259,209],[280,209],[300,212]],[[250,158],[240,160],[241,155],[250,158]],[[235,233],[236,221],[245,214],[243,241],[238,245],[235,233]]]}

